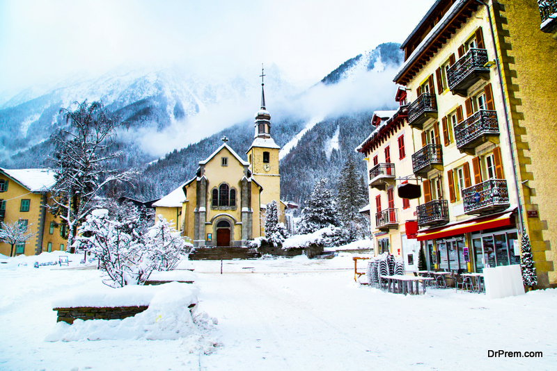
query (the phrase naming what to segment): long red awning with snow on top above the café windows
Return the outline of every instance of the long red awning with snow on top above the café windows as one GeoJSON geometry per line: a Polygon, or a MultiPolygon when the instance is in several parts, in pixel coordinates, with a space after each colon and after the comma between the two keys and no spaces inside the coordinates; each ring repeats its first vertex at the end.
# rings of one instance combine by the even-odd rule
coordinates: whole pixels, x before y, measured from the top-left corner
{"type": "Polygon", "coordinates": [[[433,240],[434,238],[457,236],[459,234],[481,231],[483,229],[494,229],[501,226],[508,226],[512,224],[511,217],[512,211],[489,217],[479,217],[473,220],[466,220],[466,222],[450,226],[429,229],[418,233],[418,241],[433,240]]]}

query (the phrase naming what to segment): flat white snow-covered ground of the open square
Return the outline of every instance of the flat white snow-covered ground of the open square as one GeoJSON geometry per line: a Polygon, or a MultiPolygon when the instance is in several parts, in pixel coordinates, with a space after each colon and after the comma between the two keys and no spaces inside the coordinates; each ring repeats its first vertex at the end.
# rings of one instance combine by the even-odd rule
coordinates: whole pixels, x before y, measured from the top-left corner
{"type": "Polygon", "coordinates": [[[224,261],[222,274],[220,261],[196,261],[198,312],[218,324],[178,340],[48,342],[56,328],[52,302],[76,288],[98,287],[99,272],[15,260],[0,264],[0,370],[554,370],[557,364],[557,290],[494,300],[436,289],[405,297],[355,283],[350,254],[224,261]],[[543,356],[488,357],[499,349],[543,356]]]}

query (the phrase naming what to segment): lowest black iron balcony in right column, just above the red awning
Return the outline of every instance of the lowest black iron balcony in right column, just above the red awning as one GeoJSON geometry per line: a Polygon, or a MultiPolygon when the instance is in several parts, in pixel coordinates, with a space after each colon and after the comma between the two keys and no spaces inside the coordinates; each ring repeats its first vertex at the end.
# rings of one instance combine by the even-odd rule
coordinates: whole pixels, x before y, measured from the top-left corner
{"type": "Polygon", "coordinates": [[[462,190],[464,213],[483,214],[509,207],[509,192],[504,179],[489,179],[462,190]]]}

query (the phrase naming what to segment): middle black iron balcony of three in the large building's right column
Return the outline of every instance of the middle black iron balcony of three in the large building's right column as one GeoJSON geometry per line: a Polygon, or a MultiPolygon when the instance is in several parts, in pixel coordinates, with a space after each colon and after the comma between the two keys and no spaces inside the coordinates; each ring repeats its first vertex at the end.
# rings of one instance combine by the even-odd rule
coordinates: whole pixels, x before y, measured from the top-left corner
{"type": "Polygon", "coordinates": [[[474,154],[484,142],[499,143],[499,123],[494,110],[478,110],[464,121],[455,125],[455,140],[461,152],[474,154]]]}

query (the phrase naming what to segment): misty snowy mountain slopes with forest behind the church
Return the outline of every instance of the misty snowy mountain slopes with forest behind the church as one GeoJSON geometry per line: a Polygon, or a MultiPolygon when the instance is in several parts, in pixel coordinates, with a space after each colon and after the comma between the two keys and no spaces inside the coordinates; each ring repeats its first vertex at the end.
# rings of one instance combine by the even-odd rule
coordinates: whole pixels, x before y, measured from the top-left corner
{"type": "MultiPolygon", "coordinates": [[[[283,199],[303,203],[320,176],[329,177],[331,187],[336,186],[345,159],[354,154],[354,148],[371,130],[373,110],[395,105],[392,76],[403,59],[398,46],[381,44],[350,58],[308,90],[289,99],[275,99],[274,106],[269,105],[269,97],[281,95],[285,82],[278,71],[274,74],[265,70],[269,76],[265,94],[272,115],[272,136],[283,148],[280,154],[283,199]],[[269,89],[272,87],[274,90],[269,89]],[[378,91],[382,94],[377,94],[378,91]]],[[[258,90],[253,83],[237,76],[207,81],[177,69],[115,71],[96,79],[79,76],[54,87],[29,89],[4,98],[0,106],[0,153],[12,155],[0,158],[0,166],[47,165],[47,156],[52,153],[49,135],[64,124],[60,108],[70,106],[72,101],[100,99],[127,122],[116,143],[123,156],[112,166],[141,170],[134,188],[120,185],[111,191],[139,199],[162,197],[191,178],[198,161],[212,154],[224,135],[230,138],[228,145],[240,156],[246,156],[253,141],[253,119],[249,117],[258,110],[257,103],[253,104],[258,99],[249,94],[258,90]],[[237,117],[244,118],[219,129],[219,124],[222,126],[226,119],[235,117],[226,111],[226,117],[219,113],[210,121],[201,122],[209,134],[207,138],[185,143],[185,147],[168,151],[162,158],[150,154],[146,140],[162,145],[171,142],[176,130],[183,135],[191,130],[196,117],[211,113],[225,100],[242,101],[236,104],[242,106],[237,117]],[[246,101],[252,103],[247,105],[246,101]],[[144,138],[142,133],[150,135],[144,138]]],[[[365,174],[363,162],[360,170],[365,174]]]]}

